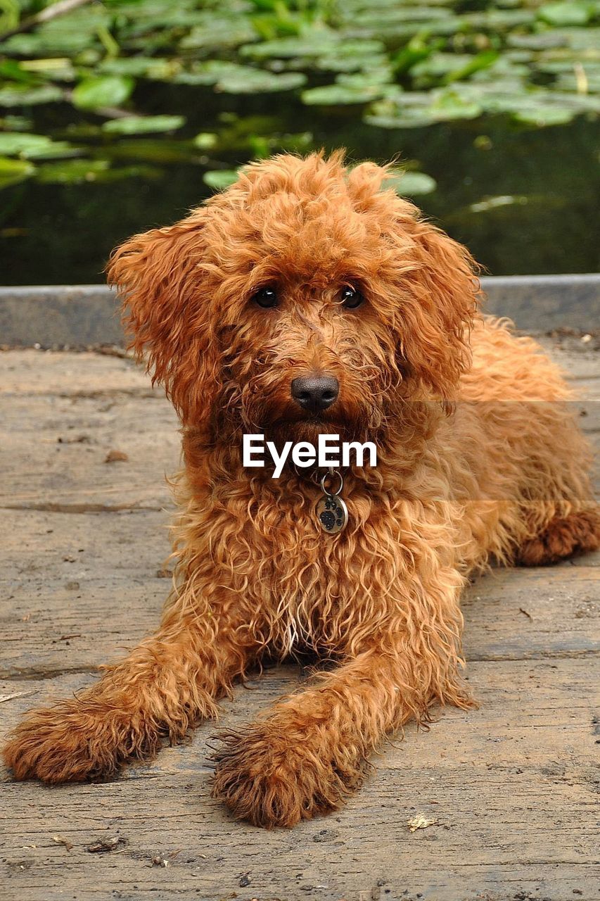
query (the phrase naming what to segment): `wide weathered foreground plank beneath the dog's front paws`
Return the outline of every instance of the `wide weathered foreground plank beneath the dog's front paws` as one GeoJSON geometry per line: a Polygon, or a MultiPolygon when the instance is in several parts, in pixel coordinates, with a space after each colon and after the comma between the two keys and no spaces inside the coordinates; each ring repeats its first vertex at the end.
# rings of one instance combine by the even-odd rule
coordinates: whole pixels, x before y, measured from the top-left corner
{"type": "MultiPolygon", "coordinates": [[[[132,899],[158,892],[213,901],[235,892],[353,901],[377,881],[382,898],[505,901],[532,892],[565,901],[575,889],[592,901],[596,673],[585,660],[472,664],[478,710],[445,711],[429,732],[408,727],[404,742],[374,759],[349,805],[292,833],[232,823],[208,796],[211,724],[190,745],[166,749],[114,782],[51,790],[6,782],[5,885],[23,901],[52,897],[49,887],[77,898],[118,890],[132,899]],[[438,823],[410,833],[416,814],[438,823]],[[125,843],[118,853],[86,851],[102,837],[125,843]],[[156,858],[168,866],[153,865],[156,858]]],[[[4,705],[6,725],[77,680],[35,684],[34,698],[4,705]]],[[[239,689],[225,705],[223,726],[254,716],[296,684],[295,669],[269,671],[259,688],[239,689]]],[[[31,690],[32,683],[8,685],[17,686],[31,690]]]]}

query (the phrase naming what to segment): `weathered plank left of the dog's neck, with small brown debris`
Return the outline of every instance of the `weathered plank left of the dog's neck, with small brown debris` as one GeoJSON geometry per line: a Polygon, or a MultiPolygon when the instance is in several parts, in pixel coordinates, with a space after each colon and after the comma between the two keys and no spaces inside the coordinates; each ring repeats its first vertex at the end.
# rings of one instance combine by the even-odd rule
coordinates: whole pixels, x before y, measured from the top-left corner
{"type": "Polygon", "coordinates": [[[177,417],[163,399],[0,396],[0,506],[94,510],[170,505],[177,417]],[[127,460],[107,462],[110,451],[127,460]]]}

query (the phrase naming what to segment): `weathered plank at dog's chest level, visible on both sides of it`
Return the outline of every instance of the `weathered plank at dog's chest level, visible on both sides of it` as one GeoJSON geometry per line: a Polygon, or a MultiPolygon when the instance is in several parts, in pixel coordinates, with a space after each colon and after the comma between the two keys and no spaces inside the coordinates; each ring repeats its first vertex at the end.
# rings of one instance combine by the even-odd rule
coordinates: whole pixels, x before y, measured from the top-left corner
{"type": "MultiPolygon", "coordinates": [[[[3,676],[99,666],[158,623],[170,589],[163,571],[167,514],[77,514],[77,530],[72,519],[5,511],[3,676]]],[[[463,605],[468,658],[597,650],[600,568],[588,560],[577,567],[498,569],[477,579],[463,605]]]]}

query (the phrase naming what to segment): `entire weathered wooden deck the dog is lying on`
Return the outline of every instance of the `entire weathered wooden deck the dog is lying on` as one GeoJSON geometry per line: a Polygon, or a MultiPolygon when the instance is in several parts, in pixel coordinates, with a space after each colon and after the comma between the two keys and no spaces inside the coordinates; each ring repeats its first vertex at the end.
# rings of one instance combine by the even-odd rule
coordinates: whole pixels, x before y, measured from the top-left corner
{"type": "MultiPolygon", "coordinates": [[[[597,354],[550,343],[592,398],[582,422],[595,438],[597,354]]],[[[130,360],[93,353],[0,353],[0,414],[5,733],[32,705],[90,684],[157,622],[178,435],[130,360]],[[128,460],[106,463],[111,450],[128,460]]],[[[292,832],[234,823],[210,798],[214,724],[112,782],[50,789],[2,770],[0,898],[594,901],[599,564],[595,554],[477,580],[464,613],[479,707],[409,726],[349,805],[292,832]],[[411,833],[416,815],[436,822],[411,833]],[[90,851],[100,840],[112,850],[90,851]]],[[[221,725],[302,678],[293,666],[251,678],[221,725]]]]}

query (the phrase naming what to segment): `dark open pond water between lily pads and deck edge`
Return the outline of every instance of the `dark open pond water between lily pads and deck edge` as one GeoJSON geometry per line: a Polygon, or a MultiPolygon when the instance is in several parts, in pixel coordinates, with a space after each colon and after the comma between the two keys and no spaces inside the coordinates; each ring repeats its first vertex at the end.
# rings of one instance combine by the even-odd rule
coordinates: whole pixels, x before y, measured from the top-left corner
{"type": "MultiPolygon", "coordinates": [[[[157,86],[148,91],[142,98],[146,113],[168,108],[186,114],[184,138],[201,131],[223,132],[231,127],[223,124],[224,115],[237,135],[232,146],[211,151],[203,168],[197,161],[200,151],[195,151],[196,162],[190,162],[189,144],[186,150],[181,141],[123,139],[107,146],[92,138],[95,155],[107,155],[112,166],[150,162],[159,171],[151,179],[74,185],[27,181],[5,189],[0,195],[4,284],[102,281],[115,244],[132,232],[176,221],[212,193],[202,180],[205,168],[236,168],[251,158],[248,141],[240,137],[251,131],[270,137],[269,147],[275,150],[274,134],[310,132],[308,149],[343,146],[353,159],[381,162],[400,155],[416,161],[438,187],[415,197],[415,202],[467,244],[493,275],[600,268],[597,120],[580,117],[568,126],[529,129],[487,119],[388,131],[361,122],[356,109],[319,114],[282,95],[249,100],[187,88],[157,86]],[[177,156],[179,161],[171,159],[177,156]]],[[[66,125],[61,126],[60,114],[54,107],[55,121],[39,120],[38,128],[74,140],[66,125]]]]}

